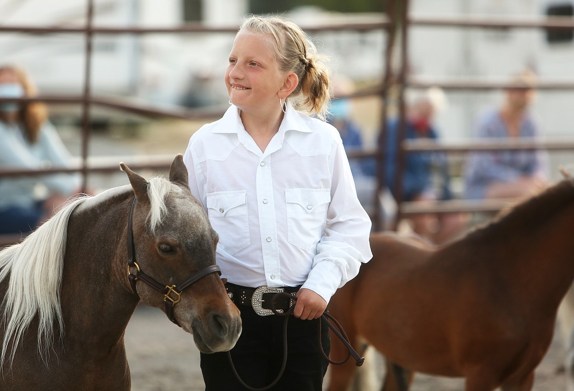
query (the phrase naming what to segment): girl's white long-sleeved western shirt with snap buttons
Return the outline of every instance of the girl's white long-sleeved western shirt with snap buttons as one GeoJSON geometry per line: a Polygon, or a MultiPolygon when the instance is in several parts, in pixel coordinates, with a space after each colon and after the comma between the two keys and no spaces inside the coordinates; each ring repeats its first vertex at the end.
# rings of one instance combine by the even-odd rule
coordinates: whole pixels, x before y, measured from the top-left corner
{"type": "Polygon", "coordinates": [[[331,125],[288,105],[262,152],[232,105],[192,135],[184,162],[230,283],[302,285],[329,302],[371,259],[371,221],[331,125]]]}

